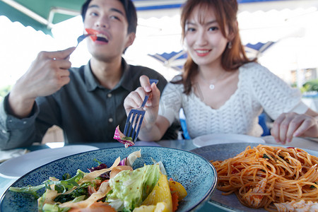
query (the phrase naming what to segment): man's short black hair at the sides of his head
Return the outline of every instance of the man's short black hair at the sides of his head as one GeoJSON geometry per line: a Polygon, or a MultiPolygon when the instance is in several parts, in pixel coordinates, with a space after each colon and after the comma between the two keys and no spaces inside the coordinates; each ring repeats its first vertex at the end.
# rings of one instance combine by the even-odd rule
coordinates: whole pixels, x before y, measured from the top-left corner
{"type": "MultiPolygon", "coordinates": [[[[83,21],[85,20],[86,11],[88,9],[88,5],[90,4],[90,1],[92,0],[86,0],[86,2],[83,4],[81,8],[81,16],[83,18],[83,21]]],[[[124,6],[124,10],[126,13],[126,18],[128,22],[128,29],[127,32],[129,33],[136,33],[137,29],[137,12],[136,7],[134,6],[134,3],[131,0],[118,0],[122,3],[122,6],[124,6]]]]}

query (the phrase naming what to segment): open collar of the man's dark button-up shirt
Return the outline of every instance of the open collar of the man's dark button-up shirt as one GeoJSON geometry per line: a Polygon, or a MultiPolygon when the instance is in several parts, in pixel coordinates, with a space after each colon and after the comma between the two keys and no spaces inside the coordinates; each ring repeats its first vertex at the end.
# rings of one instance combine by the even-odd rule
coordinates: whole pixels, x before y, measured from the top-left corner
{"type": "MultiPolygon", "coordinates": [[[[134,87],[131,66],[126,63],[124,58],[122,58],[122,67],[122,78],[120,79],[119,83],[113,88],[113,90],[122,87],[125,90],[131,91],[134,87]]],[[[100,85],[100,83],[98,83],[97,79],[95,78],[93,71],[90,68],[90,61],[88,61],[88,64],[84,66],[84,76],[86,80],[86,88],[88,91],[93,91],[96,88],[104,88],[100,85]]]]}

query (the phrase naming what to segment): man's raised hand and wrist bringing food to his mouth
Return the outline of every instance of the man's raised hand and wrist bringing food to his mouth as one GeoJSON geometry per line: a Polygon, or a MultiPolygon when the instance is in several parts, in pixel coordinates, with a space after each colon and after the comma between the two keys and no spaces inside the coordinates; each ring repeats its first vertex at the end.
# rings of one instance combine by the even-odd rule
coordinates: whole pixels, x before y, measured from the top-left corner
{"type": "Polygon", "coordinates": [[[69,83],[69,55],[75,47],[57,52],[40,52],[28,71],[13,86],[8,102],[16,117],[30,114],[35,98],[51,95],[69,83]]]}

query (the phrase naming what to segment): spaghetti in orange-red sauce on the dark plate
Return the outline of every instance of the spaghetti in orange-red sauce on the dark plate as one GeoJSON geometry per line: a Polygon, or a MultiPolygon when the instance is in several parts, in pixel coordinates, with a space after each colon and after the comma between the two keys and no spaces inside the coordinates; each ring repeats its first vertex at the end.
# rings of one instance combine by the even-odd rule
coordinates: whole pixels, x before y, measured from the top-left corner
{"type": "Polygon", "coordinates": [[[235,193],[250,208],[276,211],[275,203],[318,201],[318,158],[300,148],[259,145],[223,161],[212,161],[217,188],[235,193]]]}

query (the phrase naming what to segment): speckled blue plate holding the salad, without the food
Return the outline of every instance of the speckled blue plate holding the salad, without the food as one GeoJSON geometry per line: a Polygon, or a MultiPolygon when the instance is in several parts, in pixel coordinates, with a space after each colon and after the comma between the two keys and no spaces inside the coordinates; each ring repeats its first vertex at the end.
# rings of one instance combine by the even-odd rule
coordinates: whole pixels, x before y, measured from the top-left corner
{"type": "MultiPolygon", "coordinates": [[[[179,203],[177,211],[192,211],[200,208],[211,198],[216,189],[216,169],[200,155],[175,148],[157,146],[131,146],[129,148],[105,148],[86,153],[78,153],[51,163],[42,165],[28,172],[12,184],[13,187],[36,186],[49,177],[61,179],[64,173],[76,175],[76,170],[87,171],[87,168],[98,165],[94,159],[105,163],[108,167],[114,160],[126,158],[130,153],[141,149],[141,158],[137,158],[134,169],[144,164],[153,164],[151,158],[162,161],[167,170],[168,179],[172,177],[180,182],[188,195],[179,203]]],[[[44,192],[44,189],[43,189],[44,192]]],[[[6,191],[1,197],[0,211],[37,211],[37,199],[30,194],[6,191]]]]}

